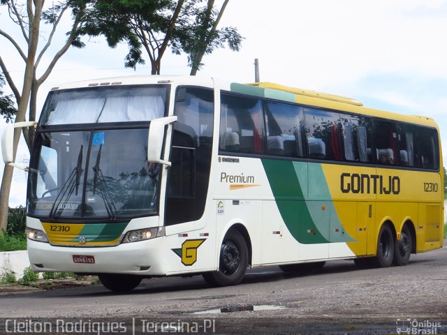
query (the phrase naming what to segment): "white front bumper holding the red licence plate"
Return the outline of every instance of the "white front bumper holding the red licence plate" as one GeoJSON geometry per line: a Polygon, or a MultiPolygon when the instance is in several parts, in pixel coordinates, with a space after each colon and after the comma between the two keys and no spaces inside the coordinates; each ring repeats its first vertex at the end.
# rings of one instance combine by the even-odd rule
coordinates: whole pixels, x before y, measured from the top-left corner
{"type": "Polygon", "coordinates": [[[34,271],[166,275],[162,257],[166,254],[165,245],[163,238],[159,237],[118,246],[94,248],[52,246],[30,239],[27,242],[29,262],[34,271]]]}

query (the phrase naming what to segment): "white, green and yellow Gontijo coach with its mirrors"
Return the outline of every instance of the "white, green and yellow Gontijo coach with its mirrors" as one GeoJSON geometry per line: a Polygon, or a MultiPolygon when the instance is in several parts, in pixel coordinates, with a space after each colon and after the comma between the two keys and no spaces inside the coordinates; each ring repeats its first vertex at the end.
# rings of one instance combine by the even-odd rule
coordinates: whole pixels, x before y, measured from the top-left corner
{"type": "MultiPolygon", "coordinates": [[[[444,174],[430,117],[269,82],[131,76],[51,89],[34,126],[34,271],[142,278],[353,260],[406,265],[443,245],[444,174]]],[[[15,165],[17,166],[17,165],[15,165]]]]}

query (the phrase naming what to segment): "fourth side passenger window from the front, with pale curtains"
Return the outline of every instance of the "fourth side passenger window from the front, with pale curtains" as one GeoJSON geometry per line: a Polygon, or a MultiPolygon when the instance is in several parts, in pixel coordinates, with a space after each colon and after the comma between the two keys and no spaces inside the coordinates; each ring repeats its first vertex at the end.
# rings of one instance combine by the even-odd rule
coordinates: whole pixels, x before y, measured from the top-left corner
{"type": "Polygon", "coordinates": [[[366,117],[340,114],[343,131],[344,159],[372,163],[372,124],[366,117]]]}

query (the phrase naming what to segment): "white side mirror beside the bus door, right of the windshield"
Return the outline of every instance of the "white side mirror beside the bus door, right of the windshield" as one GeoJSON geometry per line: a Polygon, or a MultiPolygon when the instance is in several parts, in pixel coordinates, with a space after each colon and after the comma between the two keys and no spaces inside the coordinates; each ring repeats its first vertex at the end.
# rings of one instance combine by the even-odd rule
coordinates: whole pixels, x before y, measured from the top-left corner
{"type": "Polygon", "coordinates": [[[177,117],[161,117],[154,119],[149,124],[149,135],[147,136],[147,161],[150,163],[161,163],[170,166],[169,161],[163,161],[161,149],[163,149],[163,138],[165,126],[177,121],[177,117]]]}

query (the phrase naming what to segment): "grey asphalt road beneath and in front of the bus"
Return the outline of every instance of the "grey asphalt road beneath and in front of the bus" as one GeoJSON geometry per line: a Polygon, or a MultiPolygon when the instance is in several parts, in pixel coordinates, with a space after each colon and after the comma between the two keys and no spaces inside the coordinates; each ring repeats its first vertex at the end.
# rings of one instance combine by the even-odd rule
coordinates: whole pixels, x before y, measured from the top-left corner
{"type": "Polygon", "coordinates": [[[136,323],[142,333],[144,320],[198,318],[217,322],[218,334],[445,334],[447,248],[387,269],[358,269],[347,260],[296,274],[262,267],[227,288],[194,276],[148,279],[124,295],[102,285],[15,293],[0,297],[0,316],[110,318],[136,323]]]}

